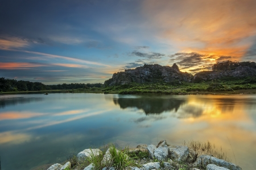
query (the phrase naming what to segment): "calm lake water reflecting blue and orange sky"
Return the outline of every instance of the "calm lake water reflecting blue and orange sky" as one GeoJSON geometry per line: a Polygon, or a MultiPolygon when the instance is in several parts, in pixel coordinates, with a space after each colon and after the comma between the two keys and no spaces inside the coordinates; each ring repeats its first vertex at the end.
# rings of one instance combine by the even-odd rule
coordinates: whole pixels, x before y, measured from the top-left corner
{"type": "Polygon", "coordinates": [[[256,169],[256,96],[0,96],[2,170],[32,169],[107,143],[209,140],[256,169]]]}

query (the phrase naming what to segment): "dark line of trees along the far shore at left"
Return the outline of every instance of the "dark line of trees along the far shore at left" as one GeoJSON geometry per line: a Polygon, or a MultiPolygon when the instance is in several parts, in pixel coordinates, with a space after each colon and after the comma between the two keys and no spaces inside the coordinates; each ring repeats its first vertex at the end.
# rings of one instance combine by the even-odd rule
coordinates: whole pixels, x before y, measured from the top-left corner
{"type": "Polygon", "coordinates": [[[84,83],[71,83],[71,84],[57,84],[45,85],[42,82],[31,82],[24,80],[15,80],[5,77],[0,78],[0,92],[26,92],[26,91],[41,91],[41,90],[71,90],[71,89],[90,89],[93,87],[101,88],[103,84],[84,84],[84,83]]]}

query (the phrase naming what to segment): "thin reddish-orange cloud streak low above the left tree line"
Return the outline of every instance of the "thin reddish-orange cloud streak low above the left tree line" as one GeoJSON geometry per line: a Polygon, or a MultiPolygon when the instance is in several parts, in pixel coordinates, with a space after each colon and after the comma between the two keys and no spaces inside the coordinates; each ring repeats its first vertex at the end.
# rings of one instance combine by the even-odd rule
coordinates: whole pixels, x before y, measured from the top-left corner
{"type": "Polygon", "coordinates": [[[32,67],[45,67],[44,64],[31,64],[31,63],[2,63],[0,62],[1,69],[28,69],[32,67]]]}

